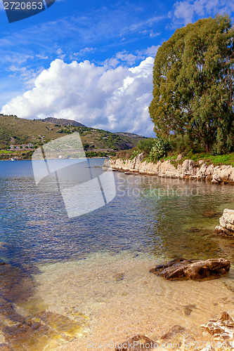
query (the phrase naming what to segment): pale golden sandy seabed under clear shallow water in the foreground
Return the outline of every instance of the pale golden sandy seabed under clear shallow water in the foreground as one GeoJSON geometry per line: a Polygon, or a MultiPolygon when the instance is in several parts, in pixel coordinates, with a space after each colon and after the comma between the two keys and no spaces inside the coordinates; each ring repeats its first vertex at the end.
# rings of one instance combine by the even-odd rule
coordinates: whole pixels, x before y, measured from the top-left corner
{"type": "Polygon", "coordinates": [[[207,282],[169,282],[149,272],[159,263],[150,255],[105,252],[41,265],[34,298],[48,311],[87,317],[79,336],[59,350],[115,350],[111,344],[137,334],[169,343],[161,336],[174,325],[186,329],[181,340],[212,341],[200,324],[223,310],[234,317],[234,293],[227,288],[234,287],[232,271],[207,282]]]}

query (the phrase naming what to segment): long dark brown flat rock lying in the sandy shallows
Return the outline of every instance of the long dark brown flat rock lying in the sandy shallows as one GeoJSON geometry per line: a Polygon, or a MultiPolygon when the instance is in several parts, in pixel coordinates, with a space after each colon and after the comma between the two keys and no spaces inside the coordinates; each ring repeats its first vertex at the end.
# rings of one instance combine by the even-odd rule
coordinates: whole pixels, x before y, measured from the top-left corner
{"type": "Polygon", "coordinates": [[[230,270],[230,262],[225,258],[209,260],[185,260],[176,258],[165,265],[157,265],[150,273],[169,280],[209,280],[223,277],[230,270]]]}

